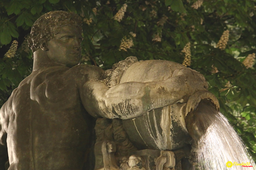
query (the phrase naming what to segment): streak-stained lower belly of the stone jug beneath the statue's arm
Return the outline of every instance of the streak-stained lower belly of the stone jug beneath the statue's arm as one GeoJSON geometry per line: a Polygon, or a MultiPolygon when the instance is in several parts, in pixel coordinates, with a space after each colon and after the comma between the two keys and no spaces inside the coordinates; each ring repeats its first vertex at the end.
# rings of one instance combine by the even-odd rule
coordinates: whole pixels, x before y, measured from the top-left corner
{"type": "Polygon", "coordinates": [[[131,120],[123,126],[132,143],[140,149],[174,150],[191,143],[185,125],[186,103],[154,110],[131,120]]]}

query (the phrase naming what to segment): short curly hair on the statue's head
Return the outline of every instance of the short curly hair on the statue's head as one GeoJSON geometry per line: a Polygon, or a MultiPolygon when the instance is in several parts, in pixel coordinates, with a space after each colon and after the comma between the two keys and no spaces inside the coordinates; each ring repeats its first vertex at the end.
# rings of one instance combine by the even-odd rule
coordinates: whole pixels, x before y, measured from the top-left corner
{"type": "Polygon", "coordinates": [[[51,11],[37,19],[32,26],[28,41],[32,52],[40,48],[40,39],[50,41],[55,34],[58,34],[59,28],[65,25],[73,25],[82,33],[82,20],[80,16],[72,12],[51,11]]]}

